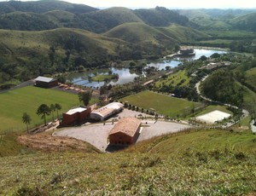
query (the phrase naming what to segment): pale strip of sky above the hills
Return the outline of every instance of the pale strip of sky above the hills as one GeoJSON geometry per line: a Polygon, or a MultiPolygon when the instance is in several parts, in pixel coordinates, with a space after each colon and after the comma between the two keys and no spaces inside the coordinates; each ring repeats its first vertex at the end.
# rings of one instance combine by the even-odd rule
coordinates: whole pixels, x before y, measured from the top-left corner
{"type": "MultiPolygon", "coordinates": [[[[6,0],[0,0],[6,1],[6,0]]],[[[26,0],[21,0],[26,1],[26,0]]],[[[65,0],[70,3],[86,4],[96,8],[125,7],[170,9],[256,9],[256,0],[65,0]]]]}

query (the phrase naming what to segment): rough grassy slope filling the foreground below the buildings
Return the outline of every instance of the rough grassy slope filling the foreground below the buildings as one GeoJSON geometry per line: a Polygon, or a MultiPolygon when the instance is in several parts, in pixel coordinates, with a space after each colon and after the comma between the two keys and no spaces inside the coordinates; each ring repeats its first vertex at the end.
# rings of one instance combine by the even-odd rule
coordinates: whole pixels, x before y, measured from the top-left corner
{"type": "Polygon", "coordinates": [[[120,153],[1,158],[0,194],[254,195],[255,141],[248,132],[190,130],[120,153]]]}

